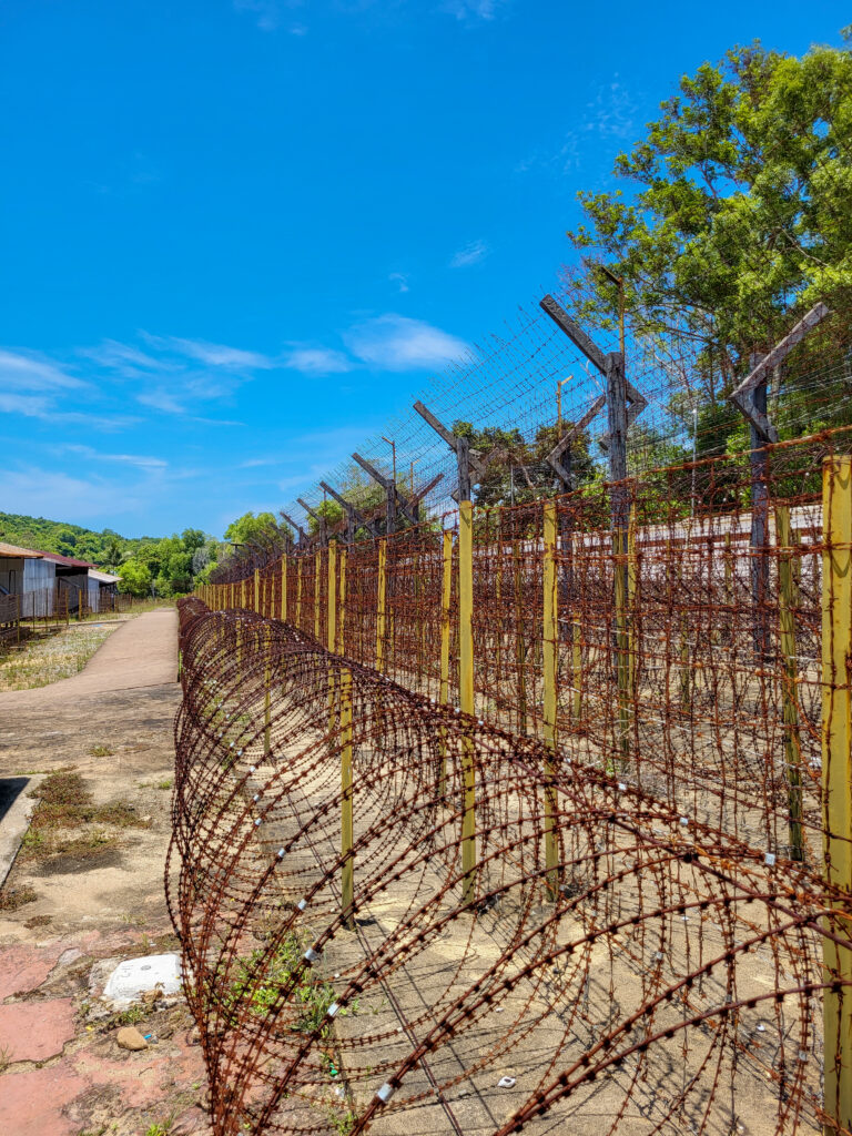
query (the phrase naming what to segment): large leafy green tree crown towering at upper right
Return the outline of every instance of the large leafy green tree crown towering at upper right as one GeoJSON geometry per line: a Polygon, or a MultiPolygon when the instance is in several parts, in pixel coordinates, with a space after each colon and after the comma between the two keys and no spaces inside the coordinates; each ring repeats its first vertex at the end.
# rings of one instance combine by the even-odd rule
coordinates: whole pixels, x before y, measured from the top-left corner
{"type": "MultiPolygon", "coordinates": [[[[818,300],[849,318],[851,139],[850,50],[735,48],[680,80],[617,157],[625,190],[582,192],[568,236],[623,278],[640,332],[686,337],[712,402],[818,300]]],[[[615,285],[568,276],[585,277],[578,314],[611,323],[615,285]]]]}

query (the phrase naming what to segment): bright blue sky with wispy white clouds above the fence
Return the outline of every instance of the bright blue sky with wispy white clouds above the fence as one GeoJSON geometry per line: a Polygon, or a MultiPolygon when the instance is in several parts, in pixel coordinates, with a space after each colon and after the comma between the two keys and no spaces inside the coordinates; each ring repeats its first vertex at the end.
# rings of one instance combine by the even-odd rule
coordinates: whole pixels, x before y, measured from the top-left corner
{"type": "Polygon", "coordinates": [[[0,0],[0,510],[219,535],[569,257],[680,74],[786,0],[0,0]]]}

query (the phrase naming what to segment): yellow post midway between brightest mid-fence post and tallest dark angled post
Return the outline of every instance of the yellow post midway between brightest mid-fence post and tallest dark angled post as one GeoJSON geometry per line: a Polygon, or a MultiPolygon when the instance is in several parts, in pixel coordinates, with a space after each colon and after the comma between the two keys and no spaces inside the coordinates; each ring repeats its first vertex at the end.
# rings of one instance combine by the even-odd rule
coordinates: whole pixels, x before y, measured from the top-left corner
{"type": "Polygon", "coordinates": [[[557,834],[557,791],[552,784],[557,751],[557,651],[559,635],[559,611],[557,595],[557,504],[544,504],[544,587],[542,663],[544,677],[544,743],[549,757],[544,767],[544,861],[546,868],[548,896],[559,895],[559,837],[557,834]]]}

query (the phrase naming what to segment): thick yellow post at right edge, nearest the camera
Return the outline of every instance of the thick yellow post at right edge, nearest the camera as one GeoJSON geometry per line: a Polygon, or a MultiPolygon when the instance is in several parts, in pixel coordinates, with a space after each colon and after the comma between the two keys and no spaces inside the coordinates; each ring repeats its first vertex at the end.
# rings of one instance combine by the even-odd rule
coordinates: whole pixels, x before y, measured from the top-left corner
{"type": "MultiPolygon", "coordinates": [[[[852,892],[850,658],[852,658],[852,459],[826,458],[822,467],[822,833],[826,883],[852,892]]],[[[837,905],[833,902],[833,905],[837,905]]],[[[847,904],[843,904],[847,909],[847,904]]],[[[827,916],[826,928],[849,937],[849,910],[827,916]]],[[[822,939],[826,983],[826,1134],[852,1128],[852,950],[822,939]],[[835,1128],[836,1125],[836,1128],[835,1128]]]]}

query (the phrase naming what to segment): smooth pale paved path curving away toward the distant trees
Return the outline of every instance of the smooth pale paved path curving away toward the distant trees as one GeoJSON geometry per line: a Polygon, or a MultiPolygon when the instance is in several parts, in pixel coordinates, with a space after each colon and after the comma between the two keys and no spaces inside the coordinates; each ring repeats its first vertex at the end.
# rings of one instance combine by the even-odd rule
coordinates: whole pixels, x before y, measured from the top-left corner
{"type": "Polygon", "coordinates": [[[0,716],[17,708],[55,707],[87,694],[162,686],[177,677],[177,612],[149,611],[128,619],[78,675],[32,691],[0,693],[0,716]]]}

